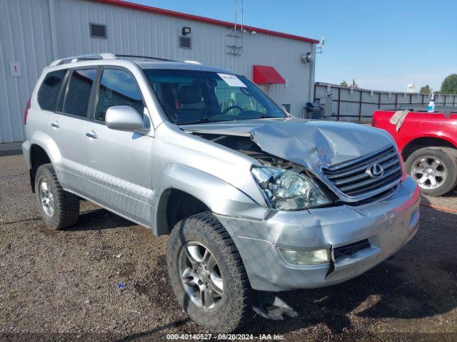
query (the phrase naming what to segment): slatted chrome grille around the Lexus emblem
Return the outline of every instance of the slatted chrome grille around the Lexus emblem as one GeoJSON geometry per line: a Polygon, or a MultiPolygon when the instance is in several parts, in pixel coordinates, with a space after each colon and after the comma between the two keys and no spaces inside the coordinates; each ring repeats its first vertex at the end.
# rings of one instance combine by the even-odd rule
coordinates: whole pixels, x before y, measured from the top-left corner
{"type": "Polygon", "coordinates": [[[354,199],[365,199],[386,191],[401,181],[401,162],[395,147],[365,157],[322,169],[333,185],[354,199]],[[368,169],[378,164],[383,168],[381,177],[372,177],[368,169]]]}

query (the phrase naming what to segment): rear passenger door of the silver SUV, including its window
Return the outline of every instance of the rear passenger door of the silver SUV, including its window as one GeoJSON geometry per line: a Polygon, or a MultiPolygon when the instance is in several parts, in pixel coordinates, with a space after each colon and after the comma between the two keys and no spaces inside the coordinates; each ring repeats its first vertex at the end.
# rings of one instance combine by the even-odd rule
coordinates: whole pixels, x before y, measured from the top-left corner
{"type": "Polygon", "coordinates": [[[60,152],[54,164],[59,182],[64,189],[77,193],[80,192],[84,173],[84,126],[89,120],[89,103],[96,74],[97,68],[69,69],[56,112],[49,121],[49,135],[60,152]]]}

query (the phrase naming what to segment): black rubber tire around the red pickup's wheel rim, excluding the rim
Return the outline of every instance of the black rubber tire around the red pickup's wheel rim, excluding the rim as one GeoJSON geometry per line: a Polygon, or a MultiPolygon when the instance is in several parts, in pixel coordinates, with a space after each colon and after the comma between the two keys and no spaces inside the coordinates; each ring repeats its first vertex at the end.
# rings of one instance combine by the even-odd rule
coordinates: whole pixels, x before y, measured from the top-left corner
{"type": "Polygon", "coordinates": [[[413,162],[418,160],[420,157],[437,157],[443,161],[443,165],[446,167],[446,179],[443,184],[434,189],[423,189],[421,192],[424,195],[430,196],[441,196],[453,190],[457,185],[457,152],[452,148],[448,147],[426,147],[420,150],[414,151],[406,160],[405,168],[406,172],[411,172],[413,162]]]}

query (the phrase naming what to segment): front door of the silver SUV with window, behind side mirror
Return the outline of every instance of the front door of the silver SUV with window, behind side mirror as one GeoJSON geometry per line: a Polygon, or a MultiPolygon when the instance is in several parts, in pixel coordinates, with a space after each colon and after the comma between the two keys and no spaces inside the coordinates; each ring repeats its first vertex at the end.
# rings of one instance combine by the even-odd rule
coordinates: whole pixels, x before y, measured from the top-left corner
{"type": "Polygon", "coordinates": [[[92,120],[84,133],[87,195],[124,217],[149,225],[154,138],[107,128],[106,110],[116,105],[129,105],[144,116],[145,104],[134,76],[124,68],[104,67],[94,92],[92,120]]]}

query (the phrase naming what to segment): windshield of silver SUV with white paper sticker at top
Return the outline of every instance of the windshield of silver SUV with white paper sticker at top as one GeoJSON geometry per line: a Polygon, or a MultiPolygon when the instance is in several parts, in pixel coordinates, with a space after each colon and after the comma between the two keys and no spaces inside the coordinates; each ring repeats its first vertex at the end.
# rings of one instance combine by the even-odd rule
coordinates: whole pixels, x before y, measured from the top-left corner
{"type": "Polygon", "coordinates": [[[243,76],[194,70],[146,69],[172,123],[209,123],[286,115],[243,76]]]}

